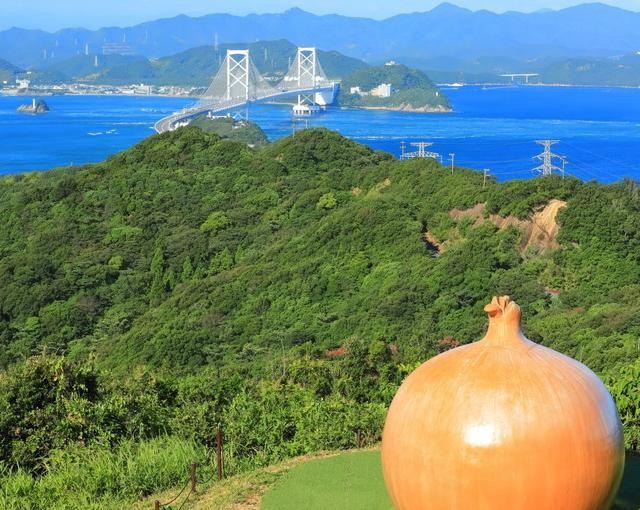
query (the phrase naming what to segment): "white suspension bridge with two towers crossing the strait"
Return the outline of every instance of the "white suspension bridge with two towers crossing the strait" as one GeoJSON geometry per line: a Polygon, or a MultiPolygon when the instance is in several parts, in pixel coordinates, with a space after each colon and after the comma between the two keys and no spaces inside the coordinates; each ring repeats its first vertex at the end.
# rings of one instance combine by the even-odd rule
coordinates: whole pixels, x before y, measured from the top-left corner
{"type": "Polygon", "coordinates": [[[295,115],[310,115],[333,103],[339,82],[324,73],[316,48],[298,48],[284,78],[276,85],[265,79],[251,60],[249,50],[227,50],[213,81],[199,101],[155,124],[158,133],[173,131],[201,115],[221,115],[250,103],[298,96],[295,115]]]}

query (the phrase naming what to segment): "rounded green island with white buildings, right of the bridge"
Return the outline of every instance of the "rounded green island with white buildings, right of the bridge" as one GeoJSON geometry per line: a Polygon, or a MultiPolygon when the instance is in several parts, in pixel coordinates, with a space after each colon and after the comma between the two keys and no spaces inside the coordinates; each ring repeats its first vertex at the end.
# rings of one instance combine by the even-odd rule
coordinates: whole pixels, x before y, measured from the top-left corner
{"type": "Polygon", "coordinates": [[[340,89],[338,103],[344,107],[427,113],[452,111],[447,97],[425,73],[393,61],[356,71],[342,82],[340,89]]]}

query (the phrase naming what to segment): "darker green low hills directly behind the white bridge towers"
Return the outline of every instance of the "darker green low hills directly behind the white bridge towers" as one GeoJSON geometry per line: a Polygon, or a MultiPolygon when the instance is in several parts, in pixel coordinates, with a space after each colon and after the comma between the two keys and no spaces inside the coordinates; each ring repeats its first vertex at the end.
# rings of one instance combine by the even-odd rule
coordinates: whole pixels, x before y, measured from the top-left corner
{"type": "MultiPolygon", "coordinates": [[[[289,69],[296,56],[296,46],[289,41],[260,41],[201,46],[160,59],[122,55],[78,55],[51,64],[46,71],[63,74],[68,81],[121,85],[181,85],[203,87],[218,71],[228,48],[248,48],[260,73],[279,78],[289,69]]],[[[318,50],[325,73],[330,78],[343,78],[368,64],[336,51],[318,50]]]]}

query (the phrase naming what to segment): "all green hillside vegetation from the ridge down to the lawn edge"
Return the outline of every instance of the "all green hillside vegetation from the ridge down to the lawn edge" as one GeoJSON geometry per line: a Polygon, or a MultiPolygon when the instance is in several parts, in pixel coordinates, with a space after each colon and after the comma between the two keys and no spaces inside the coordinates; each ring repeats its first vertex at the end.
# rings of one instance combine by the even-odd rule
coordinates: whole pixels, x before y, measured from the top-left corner
{"type": "Polygon", "coordinates": [[[229,474],[356,430],[371,444],[403,377],[479,339],[495,294],[598,372],[638,435],[632,181],[483,188],[326,130],[252,150],[187,127],[1,178],[0,253],[3,508],[127,507],[193,459],[210,474],[218,426],[229,474]],[[556,249],[451,214],[552,199],[556,249]]]}

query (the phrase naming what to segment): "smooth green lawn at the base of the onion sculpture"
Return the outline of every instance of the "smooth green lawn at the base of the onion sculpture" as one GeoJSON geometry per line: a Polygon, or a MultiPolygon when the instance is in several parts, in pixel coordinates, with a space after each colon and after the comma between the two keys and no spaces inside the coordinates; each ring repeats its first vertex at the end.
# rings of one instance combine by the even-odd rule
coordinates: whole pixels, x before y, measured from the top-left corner
{"type": "MultiPolygon", "coordinates": [[[[348,452],[297,465],[262,498],[260,510],[392,510],[379,451],[348,452]]],[[[640,457],[627,456],[612,510],[640,509],[640,457]]]]}

